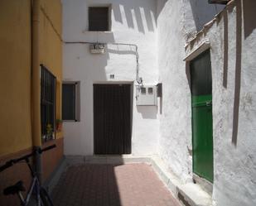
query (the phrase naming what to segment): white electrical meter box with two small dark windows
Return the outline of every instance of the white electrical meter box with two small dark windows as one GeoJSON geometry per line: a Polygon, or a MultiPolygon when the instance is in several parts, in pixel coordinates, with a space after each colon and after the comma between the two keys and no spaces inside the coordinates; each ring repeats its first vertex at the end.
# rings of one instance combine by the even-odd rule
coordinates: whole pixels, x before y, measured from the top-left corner
{"type": "Polygon", "coordinates": [[[136,105],[138,106],[157,105],[157,87],[155,85],[136,86],[136,105]]]}

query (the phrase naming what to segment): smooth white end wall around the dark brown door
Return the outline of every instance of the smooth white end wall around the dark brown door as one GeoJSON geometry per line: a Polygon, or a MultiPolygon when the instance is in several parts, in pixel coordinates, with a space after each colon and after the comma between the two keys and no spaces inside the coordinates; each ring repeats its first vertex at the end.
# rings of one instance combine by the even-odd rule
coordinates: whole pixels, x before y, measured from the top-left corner
{"type": "MultiPolygon", "coordinates": [[[[144,84],[157,84],[157,26],[155,0],[63,0],[64,41],[119,42],[138,45],[140,76],[144,84]],[[88,31],[88,7],[110,5],[111,31],[88,31]]],[[[136,84],[133,46],[108,46],[104,55],[91,55],[89,46],[64,44],[64,81],[80,81],[80,122],[64,122],[65,155],[93,155],[93,84],[136,84]],[[109,79],[114,74],[115,79],[109,79]],[[135,82],[134,82],[135,81],[135,82]]],[[[133,89],[135,91],[135,89],[133,89]]],[[[134,155],[157,153],[157,107],[135,105],[133,93],[134,155]]]]}

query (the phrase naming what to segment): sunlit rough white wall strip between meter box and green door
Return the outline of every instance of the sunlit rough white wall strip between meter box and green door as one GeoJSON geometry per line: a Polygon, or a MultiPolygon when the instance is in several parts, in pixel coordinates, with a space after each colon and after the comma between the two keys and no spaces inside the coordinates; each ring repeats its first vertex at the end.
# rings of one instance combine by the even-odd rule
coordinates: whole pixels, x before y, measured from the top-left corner
{"type": "Polygon", "coordinates": [[[190,90],[186,79],[182,1],[159,1],[158,67],[162,82],[159,153],[176,175],[186,180],[191,173],[190,90]],[[163,3],[163,5],[162,5],[163,3]],[[175,52],[175,53],[174,53],[175,52]]]}

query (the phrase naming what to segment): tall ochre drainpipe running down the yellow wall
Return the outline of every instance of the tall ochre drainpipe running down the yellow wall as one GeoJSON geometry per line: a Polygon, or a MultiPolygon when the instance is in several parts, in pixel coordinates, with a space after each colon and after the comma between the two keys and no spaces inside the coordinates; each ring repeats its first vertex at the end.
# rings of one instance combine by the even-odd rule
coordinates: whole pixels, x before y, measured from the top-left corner
{"type": "MultiPolygon", "coordinates": [[[[41,0],[32,1],[32,22],[31,22],[31,38],[32,38],[32,80],[31,80],[31,95],[32,95],[32,143],[34,149],[41,149],[41,81],[40,81],[40,2],[41,0]]],[[[38,151],[38,150],[36,150],[38,151]]],[[[41,182],[42,166],[41,154],[36,152],[35,156],[36,175],[41,182]]]]}

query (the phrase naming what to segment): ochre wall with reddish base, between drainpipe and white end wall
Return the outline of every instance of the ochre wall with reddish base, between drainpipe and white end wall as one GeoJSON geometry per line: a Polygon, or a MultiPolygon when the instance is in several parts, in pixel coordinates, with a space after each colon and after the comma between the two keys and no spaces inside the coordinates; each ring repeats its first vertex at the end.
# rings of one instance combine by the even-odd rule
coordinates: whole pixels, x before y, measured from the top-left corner
{"type": "MultiPolygon", "coordinates": [[[[60,0],[41,0],[40,12],[40,63],[56,76],[56,118],[61,119],[62,84],[62,11],[60,0]]],[[[56,139],[43,147],[56,144],[56,149],[43,154],[43,180],[47,180],[63,156],[63,133],[56,132],[56,139]]]]}

